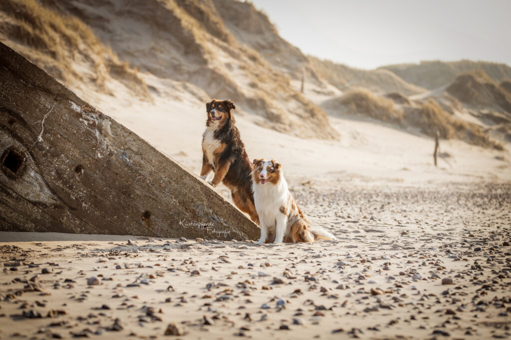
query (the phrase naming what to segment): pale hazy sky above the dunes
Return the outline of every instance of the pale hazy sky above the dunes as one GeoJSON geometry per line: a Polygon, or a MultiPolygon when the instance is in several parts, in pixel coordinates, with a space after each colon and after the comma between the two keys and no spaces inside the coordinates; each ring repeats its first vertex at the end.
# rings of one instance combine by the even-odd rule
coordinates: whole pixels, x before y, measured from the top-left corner
{"type": "Polygon", "coordinates": [[[510,0],[251,0],[306,54],[355,66],[472,59],[511,65],[510,0]]]}

